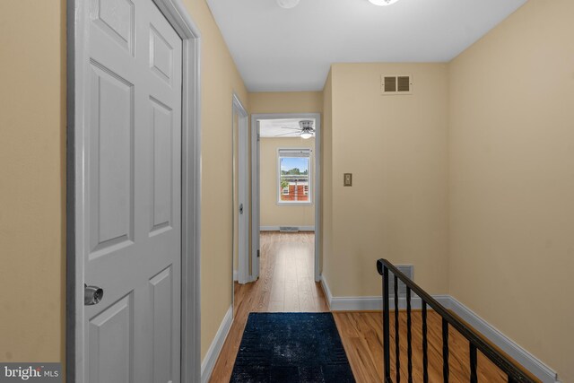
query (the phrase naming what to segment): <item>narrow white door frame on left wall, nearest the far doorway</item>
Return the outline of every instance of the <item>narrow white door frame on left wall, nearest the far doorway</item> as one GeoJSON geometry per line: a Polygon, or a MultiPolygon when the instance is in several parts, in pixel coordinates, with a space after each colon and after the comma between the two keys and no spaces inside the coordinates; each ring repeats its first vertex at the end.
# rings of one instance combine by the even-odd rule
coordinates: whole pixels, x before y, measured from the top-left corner
{"type": "MultiPolygon", "coordinates": [[[[243,205],[242,213],[233,212],[233,214],[238,214],[238,241],[239,241],[239,254],[238,254],[238,282],[248,283],[249,279],[249,164],[248,164],[248,152],[249,152],[249,126],[248,126],[248,112],[241,104],[239,97],[234,92],[232,97],[232,116],[235,113],[239,116],[238,125],[238,174],[235,175],[239,182],[239,196],[238,196],[238,206],[243,205]]],[[[233,126],[233,123],[231,123],[233,126]]],[[[233,135],[235,139],[235,135],[233,135]]],[[[235,148],[235,143],[233,144],[235,148]]],[[[234,153],[235,155],[235,153],[234,153]]],[[[233,167],[235,170],[235,166],[233,167]]],[[[233,204],[235,205],[235,204],[233,204]]],[[[235,220],[233,220],[235,222],[235,220]]],[[[235,228],[233,231],[235,232],[235,228]]],[[[235,244],[233,244],[235,248],[235,244]]]]}

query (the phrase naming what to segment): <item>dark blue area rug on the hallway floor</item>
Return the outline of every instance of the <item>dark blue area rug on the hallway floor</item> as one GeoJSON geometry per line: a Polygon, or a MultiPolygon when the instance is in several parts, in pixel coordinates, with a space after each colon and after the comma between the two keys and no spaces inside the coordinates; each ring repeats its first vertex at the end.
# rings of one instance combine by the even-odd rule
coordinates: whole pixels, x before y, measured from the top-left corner
{"type": "Polygon", "coordinates": [[[354,381],[330,312],[249,314],[230,382],[354,381]]]}

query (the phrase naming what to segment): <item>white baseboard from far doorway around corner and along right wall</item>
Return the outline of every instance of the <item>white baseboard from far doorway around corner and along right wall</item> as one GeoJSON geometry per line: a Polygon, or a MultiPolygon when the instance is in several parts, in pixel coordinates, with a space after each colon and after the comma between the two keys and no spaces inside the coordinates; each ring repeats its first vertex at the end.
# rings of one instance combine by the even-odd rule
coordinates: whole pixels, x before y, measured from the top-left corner
{"type": "MultiPolygon", "coordinates": [[[[383,308],[383,300],[380,296],[334,297],[324,275],[321,276],[321,285],[323,286],[323,291],[325,292],[326,300],[331,311],[381,310],[383,308]]],[[[536,378],[542,380],[544,383],[560,383],[556,371],[546,366],[533,354],[528,353],[524,348],[508,336],[502,334],[494,326],[491,326],[483,318],[480,318],[474,311],[468,309],[454,297],[443,294],[432,295],[432,298],[438,300],[445,308],[453,310],[460,318],[463,318],[466,323],[473,326],[476,331],[500,347],[500,350],[508,353],[511,358],[520,363],[526,370],[532,372],[536,378]]],[[[391,309],[395,309],[395,300],[393,298],[389,300],[389,305],[391,309]]],[[[413,295],[411,307],[413,309],[421,309],[421,306],[421,298],[413,295]]],[[[399,308],[406,309],[405,298],[399,299],[399,308]]]]}

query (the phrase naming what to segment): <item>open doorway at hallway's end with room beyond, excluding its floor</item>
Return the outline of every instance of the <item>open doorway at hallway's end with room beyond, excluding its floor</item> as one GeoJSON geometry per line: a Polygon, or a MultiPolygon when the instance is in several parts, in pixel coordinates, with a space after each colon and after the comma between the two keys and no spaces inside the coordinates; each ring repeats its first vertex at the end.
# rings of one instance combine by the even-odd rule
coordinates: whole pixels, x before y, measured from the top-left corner
{"type": "MultiPolygon", "coordinates": [[[[313,245],[313,277],[315,282],[320,280],[319,246],[320,246],[320,206],[321,206],[321,153],[320,153],[321,121],[318,113],[293,114],[254,114],[251,116],[251,264],[252,278],[259,277],[261,256],[261,231],[314,231],[313,245]],[[305,126],[311,125],[312,129],[305,126]],[[264,129],[264,131],[262,131],[264,129]],[[308,134],[312,134],[309,136],[308,134]],[[283,138],[282,138],[283,137],[283,138]],[[280,140],[284,141],[281,144],[280,140]],[[312,140],[313,144],[309,144],[312,140]],[[262,152],[272,157],[265,158],[265,172],[270,174],[269,163],[273,163],[274,175],[266,176],[265,193],[262,187],[262,152]],[[311,161],[313,160],[313,161],[311,161]],[[307,163],[307,165],[305,165],[307,163]],[[297,165],[299,164],[299,165],[297,165]],[[309,166],[310,165],[310,166],[309,166]],[[297,168],[299,166],[301,169],[297,168]],[[307,167],[302,169],[302,167],[307,167]],[[282,169],[283,167],[283,169],[282,169]],[[289,169],[288,169],[289,168],[289,169]],[[306,173],[306,174],[305,174],[306,173]],[[273,178],[273,179],[269,179],[273,178]],[[262,216],[262,202],[265,201],[265,213],[262,216]],[[291,207],[297,210],[312,211],[312,226],[309,222],[285,221],[282,223],[283,212],[291,207]],[[273,211],[273,212],[272,212],[273,211]],[[271,215],[278,216],[279,221],[269,223],[271,215]],[[263,221],[265,220],[265,221],[263,221]],[[296,224],[290,224],[296,223],[296,224]],[[301,230],[302,229],[302,230],[301,230]]],[[[289,220],[289,219],[287,219],[289,220]]]]}

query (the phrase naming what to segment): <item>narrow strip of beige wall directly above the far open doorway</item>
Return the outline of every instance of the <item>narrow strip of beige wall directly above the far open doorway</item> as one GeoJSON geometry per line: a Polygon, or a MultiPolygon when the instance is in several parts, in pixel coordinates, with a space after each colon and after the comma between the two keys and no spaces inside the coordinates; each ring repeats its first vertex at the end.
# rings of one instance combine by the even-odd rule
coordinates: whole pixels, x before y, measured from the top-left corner
{"type": "Polygon", "coordinates": [[[250,113],[320,113],[322,91],[276,91],[249,93],[250,113]]]}

